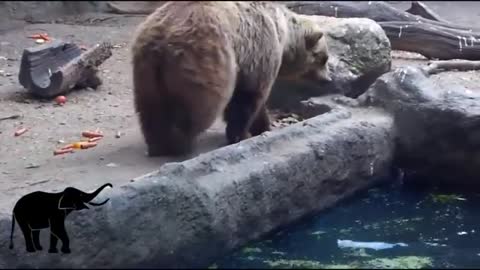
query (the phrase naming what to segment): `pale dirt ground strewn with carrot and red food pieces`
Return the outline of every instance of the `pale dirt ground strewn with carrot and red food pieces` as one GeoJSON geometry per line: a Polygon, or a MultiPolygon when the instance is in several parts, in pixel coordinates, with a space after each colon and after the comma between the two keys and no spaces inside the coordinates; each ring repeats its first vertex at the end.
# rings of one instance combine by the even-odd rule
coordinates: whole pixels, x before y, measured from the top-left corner
{"type": "MultiPolygon", "coordinates": [[[[437,3],[445,3],[443,12],[433,7],[440,15],[451,14],[448,5],[453,3],[437,3]]],[[[477,12],[469,17],[470,22],[480,17],[480,2],[476,3],[478,8],[467,8],[477,12]]],[[[461,18],[454,21],[465,23],[465,16],[461,18]]],[[[22,115],[20,119],[0,121],[0,212],[10,211],[13,203],[30,191],[61,191],[67,186],[91,190],[106,182],[118,186],[158,169],[166,161],[180,161],[145,155],[146,147],[134,114],[128,43],[143,17],[90,14],[75,20],[77,25],[71,21],[62,24],[15,21],[10,27],[0,29],[0,118],[22,115]],[[118,45],[113,56],[101,66],[103,85],[98,90],[68,94],[64,106],[30,98],[18,83],[18,71],[23,49],[35,46],[27,37],[37,32],[81,45],[91,46],[101,41],[118,45]],[[14,137],[19,127],[29,130],[14,137]],[[97,128],[105,134],[97,147],[53,155],[60,145],[78,141],[82,131],[97,128]],[[116,137],[118,132],[120,138],[116,137]]],[[[394,56],[394,66],[425,63],[414,54],[394,52],[394,56]]],[[[442,74],[438,77],[440,83],[458,80],[472,90],[480,82],[479,73],[442,74]]],[[[200,140],[192,156],[225,144],[223,124],[215,124],[200,140]]]]}

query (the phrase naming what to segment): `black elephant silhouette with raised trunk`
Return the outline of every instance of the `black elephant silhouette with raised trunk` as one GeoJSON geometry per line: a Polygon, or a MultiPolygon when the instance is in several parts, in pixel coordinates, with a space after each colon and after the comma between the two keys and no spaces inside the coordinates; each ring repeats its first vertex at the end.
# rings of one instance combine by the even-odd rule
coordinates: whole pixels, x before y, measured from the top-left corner
{"type": "Polygon", "coordinates": [[[65,230],[65,218],[74,210],[89,209],[85,203],[100,206],[108,202],[93,203],[92,201],[104,188],[113,187],[107,183],[92,193],[85,193],[73,187],[67,187],[58,193],[42,191],[32,192],[20,198],[12,213],[12,232],[10,234],[10,249],[13,248],[13,232],[17,220],[27,252],[42,250],[40,245],[40,230],[50,227],[49,253],[57,253],[57,242],[62,241],[62,252],[70,253],[69,239],[65,230]]]}

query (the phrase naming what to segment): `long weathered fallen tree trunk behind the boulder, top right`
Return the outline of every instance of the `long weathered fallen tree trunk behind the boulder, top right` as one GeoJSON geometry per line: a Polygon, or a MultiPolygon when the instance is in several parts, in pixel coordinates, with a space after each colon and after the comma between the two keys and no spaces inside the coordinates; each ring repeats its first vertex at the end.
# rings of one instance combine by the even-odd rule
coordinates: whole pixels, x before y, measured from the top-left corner
{"type": "Polygon", "coordinates": [[[429,59],[480,60],[480,33],[465,26],[422,18],[385,2],[295,1],[286,5],[306,15],[375,20],[386,32],[393,50],[415,52],[429,59]]]}

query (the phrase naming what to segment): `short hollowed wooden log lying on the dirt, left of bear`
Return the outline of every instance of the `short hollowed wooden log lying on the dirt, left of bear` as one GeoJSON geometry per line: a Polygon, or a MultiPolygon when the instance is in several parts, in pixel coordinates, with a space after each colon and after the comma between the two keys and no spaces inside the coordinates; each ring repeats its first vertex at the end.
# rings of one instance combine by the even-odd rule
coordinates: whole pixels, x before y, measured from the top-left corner
{"type": "Polygon", "coordinates": [[[19,81],[34,96],[52,98],[75,87],[96,88],[101,84],[97,67],[111,55],[112,46],[97,44],[85,52],[72,43],[53,41],[26,49],[19,81]]]}

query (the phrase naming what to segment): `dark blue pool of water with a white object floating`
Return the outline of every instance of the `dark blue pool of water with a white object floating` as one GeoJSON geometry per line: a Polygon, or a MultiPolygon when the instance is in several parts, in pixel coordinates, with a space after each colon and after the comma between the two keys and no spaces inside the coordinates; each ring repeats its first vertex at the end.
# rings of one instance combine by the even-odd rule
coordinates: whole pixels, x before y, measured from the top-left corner
{"type": "Polygon", "coordinates": [[[478,206],[479,194],[374,188],[210,268],[478,268],[478,206]]]}

